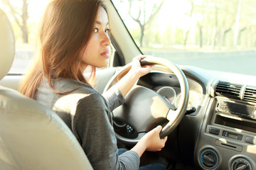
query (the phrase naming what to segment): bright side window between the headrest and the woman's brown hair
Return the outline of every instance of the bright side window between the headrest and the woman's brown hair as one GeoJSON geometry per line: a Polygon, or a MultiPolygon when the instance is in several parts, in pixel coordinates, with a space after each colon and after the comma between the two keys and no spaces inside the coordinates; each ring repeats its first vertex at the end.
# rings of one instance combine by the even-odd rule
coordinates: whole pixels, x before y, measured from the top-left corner
{"type": "Polygon", "coordinates": [[[33,61],[38,24],[48,1],[1,1],[0,8],[9,17],[16,39],[16,55],[9,74],[26,73],[33,61]]]}

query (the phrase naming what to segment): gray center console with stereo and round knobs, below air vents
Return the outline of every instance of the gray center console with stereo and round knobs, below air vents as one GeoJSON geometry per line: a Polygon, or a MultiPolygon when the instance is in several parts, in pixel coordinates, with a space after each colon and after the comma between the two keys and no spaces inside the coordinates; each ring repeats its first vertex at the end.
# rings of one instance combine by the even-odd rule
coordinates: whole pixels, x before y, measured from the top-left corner
{"type": "Polygon", "coordinates": [[[205,116],[195,152],[199,169],[255,170],[256,106],[216,96],[205,116]]]}

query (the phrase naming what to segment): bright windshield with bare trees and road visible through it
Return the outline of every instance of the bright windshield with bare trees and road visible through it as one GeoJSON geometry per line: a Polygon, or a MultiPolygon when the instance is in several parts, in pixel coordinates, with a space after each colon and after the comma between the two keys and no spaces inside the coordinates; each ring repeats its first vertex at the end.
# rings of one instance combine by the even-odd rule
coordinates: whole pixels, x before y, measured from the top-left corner
{"type": "Polygon", "coordinates": [[[256,75],[255,0],[113,0],[144,53],[256,75]]]}

